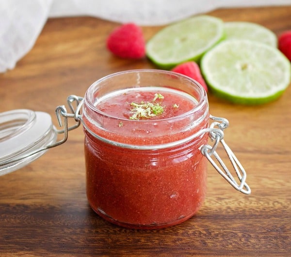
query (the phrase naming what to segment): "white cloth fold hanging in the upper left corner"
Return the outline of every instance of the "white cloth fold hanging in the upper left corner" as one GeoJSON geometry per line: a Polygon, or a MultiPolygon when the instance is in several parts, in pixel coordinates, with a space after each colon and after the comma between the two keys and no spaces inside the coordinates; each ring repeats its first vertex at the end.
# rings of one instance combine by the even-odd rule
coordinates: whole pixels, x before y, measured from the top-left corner
{"type": "Polygon", "coordinates": [[[0,72],[13,69],[30,51],[48,16],[52,0],[0,0],[0,72]]]}

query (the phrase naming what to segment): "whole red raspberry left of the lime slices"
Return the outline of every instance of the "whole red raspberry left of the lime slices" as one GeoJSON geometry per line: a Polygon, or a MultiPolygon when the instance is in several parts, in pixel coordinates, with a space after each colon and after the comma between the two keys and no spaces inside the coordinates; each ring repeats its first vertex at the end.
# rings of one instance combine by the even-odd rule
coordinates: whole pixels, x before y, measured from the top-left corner
{"type": "Polygon", "coordinates": [[[146,55],[146,41],[142,29],[134,23],[117,27],[107,38],[107,48],[121,58],[143,58],[146,55]]]}

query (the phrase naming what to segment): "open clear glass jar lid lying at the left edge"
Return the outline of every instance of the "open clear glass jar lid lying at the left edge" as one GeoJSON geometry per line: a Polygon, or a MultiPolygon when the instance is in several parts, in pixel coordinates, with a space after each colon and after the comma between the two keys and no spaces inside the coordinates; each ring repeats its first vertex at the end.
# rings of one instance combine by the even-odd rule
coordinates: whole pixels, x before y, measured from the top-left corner
{"type": "Polygon", "coordinates": [[[46,152],[37,151],[56,138],[48,113],[27,109],[0,113],[0,175],[31,163],[46,152]]]}

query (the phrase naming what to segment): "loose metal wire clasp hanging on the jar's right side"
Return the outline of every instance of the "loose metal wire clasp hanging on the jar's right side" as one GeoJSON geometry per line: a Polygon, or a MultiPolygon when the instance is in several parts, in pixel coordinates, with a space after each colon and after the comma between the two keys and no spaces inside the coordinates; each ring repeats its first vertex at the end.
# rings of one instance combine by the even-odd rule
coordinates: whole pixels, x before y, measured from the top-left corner
{"type": "Polygon", "coordinates": [[[229,125],[228,120],[226,120],[225,118],[214,117],[212,115],[210,115],[210,119],[214,120],[214,122],[210,124],[210,128],[213,130],[209,132],[209,137],[211,141],[214,141],[214,143],[213,143],[213,146],[210,146],[209,144],[203,145],[200,148],[201,153],[209,160],[209,162],[212,164],[214,169],[218,171],[218,173],[221,174],[233,188],[235,188],[236,190],[244,194],[250,194],[251,189],[245,182],[246,172],[244,168],[242,167],[242,164],[239,162],[235,154],[231,151],[231,149],[229,148],[229,146],[226,144],[225,140],[223,139],[224,138],[223,131],[229,125]],[[215,129],[214,127],[218,127],[218,129],[215,129]],[[219,154],[217,154],[216,148],[219,143],[222,144],[224,150],[226,151],[226,154],[232,164],[232,167],[234,168],[236,172],[236,175],[240,183],[238,183],[235,180],[235,178],[233,177],[231,172],[228,170],[228,168],[226,167],[225,163],[223,162],[219,154]],[[211,158],[211,155],[215,157],[215,159],[217,160],[217,162],[219,163],[222,169],[211,158]]]}

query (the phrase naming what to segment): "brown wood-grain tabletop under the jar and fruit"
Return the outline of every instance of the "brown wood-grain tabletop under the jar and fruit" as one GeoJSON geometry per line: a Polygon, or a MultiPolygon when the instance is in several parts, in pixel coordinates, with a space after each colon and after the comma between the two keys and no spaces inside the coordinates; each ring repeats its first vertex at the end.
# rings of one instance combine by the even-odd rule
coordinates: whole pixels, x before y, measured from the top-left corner
{"type": "MultiPolygon", "coordinates": [[[[220,9],[225,21],[291,29],[291,6],[220,9]]],[[[155,68],[106,50],[118,24],[93,17],[49,19],[32,51],[0,74],[0,110],[48,112],[70,94],[83,96],[116,71],[155,68]]],[[[149,39],[161,27],[143,28],[149,39]]],[[[0,177],[0,256],[291,256],[291,88],[261,106],[226,103],[209,94],[214,116],[226,117],[226,142],[247,171],[243,195],[209,166],[207,200],[190,220],[159,230],[133,230],[99,218],[85,195],[83,133],[32,164],[0,177]]]]}

